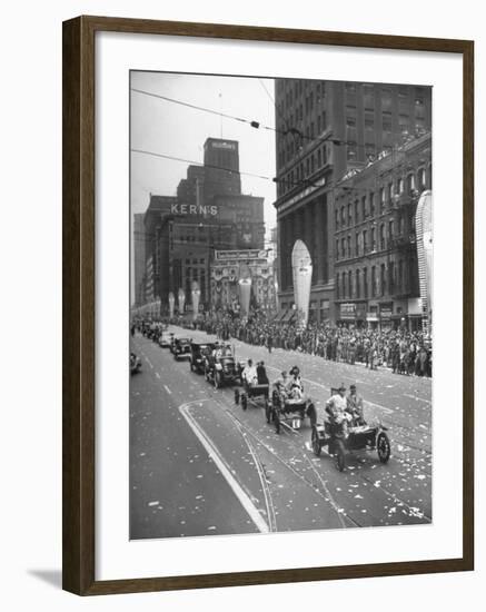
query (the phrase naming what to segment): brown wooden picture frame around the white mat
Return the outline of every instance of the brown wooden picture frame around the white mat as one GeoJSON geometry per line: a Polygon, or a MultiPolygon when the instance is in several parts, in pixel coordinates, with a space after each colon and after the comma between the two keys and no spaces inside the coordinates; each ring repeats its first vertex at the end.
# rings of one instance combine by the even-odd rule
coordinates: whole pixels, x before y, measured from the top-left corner
{"type": "Polygon", "coordinates": [[[456,572],[474,567],[474,43],[79,17],[63,23],[63,589],[80,595],[456,572]],[[95,555],[95,36],[99,31],[456,53],[464,95],[463,554],[457,559],[97,581],[95,555]]]}

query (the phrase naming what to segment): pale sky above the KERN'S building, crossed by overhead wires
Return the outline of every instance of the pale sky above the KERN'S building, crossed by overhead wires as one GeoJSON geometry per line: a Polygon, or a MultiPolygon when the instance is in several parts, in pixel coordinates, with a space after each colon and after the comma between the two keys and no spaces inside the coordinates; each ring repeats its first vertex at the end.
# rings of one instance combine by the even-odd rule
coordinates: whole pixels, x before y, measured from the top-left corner
{"type": "MultiPolygon", "coordinates": [[[[142,89],[275,127],[274,80],[247,77],[131,72],[142,89]],[[265,91],[267,89],[270,97],[265,91]]],[[[275,131],[131,92],[131,149],[202,162],[206,138],[239,141],[241,172],[275,177],[275,131]]],[[[143,213],[149,194],[173,196],[188,164],[131,152],[131,211],[143,213]]],[[[267,230],[275,226],[276,184],[242,175],[244,194],[265,198],[267,230]]]]}

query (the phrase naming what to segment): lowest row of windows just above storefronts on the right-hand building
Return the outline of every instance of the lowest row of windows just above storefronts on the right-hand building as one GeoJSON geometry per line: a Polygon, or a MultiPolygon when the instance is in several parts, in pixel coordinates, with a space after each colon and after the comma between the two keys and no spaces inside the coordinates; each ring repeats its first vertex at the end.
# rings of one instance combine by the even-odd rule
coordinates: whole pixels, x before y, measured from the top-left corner
{"type": "Polygon", "coordinates": [[[337,299],[366,299],[406,292],[406,263],[403,259],[398,265],[390,261],[388,268],[385,264],[371,266],[369,277],[367,267],[336,274],[337,299]]]}

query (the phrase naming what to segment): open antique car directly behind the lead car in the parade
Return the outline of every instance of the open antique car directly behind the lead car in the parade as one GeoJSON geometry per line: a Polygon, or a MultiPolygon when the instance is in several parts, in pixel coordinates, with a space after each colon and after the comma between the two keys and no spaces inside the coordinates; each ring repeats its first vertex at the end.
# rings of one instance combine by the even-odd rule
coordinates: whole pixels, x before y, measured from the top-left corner
{"type": "Polygon", "coordinates": [[[282,423],[292,430],[300,430],[306,417],[309,418],[311,427],[317,422],[316,406],[307,395],[294,397],[281,387],[274,387],[271,403],[267,404],[265,413],[267,423],[274,422],[277,434],[280,433],[282,423]]]}

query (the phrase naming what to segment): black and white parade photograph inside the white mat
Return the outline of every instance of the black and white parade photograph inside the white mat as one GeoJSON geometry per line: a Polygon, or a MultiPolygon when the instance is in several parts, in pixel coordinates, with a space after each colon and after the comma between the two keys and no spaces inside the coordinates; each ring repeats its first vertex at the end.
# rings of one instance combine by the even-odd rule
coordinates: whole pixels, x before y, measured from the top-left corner
{"type": "Polygon", "coordinates": [[[433,88],[129,88],[130,540],[426,529],[433,88]]]}

